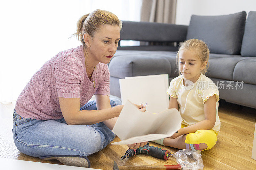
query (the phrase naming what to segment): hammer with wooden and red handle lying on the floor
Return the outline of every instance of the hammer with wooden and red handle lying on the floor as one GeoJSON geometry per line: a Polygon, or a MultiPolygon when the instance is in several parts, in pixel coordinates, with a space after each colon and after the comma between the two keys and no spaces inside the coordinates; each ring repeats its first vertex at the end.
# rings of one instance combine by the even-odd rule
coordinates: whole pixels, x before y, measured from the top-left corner
{"type": "Polygon", "coordinates": [[[114,161],[113,170],[163,170],[163,169],[182,169],[181,166],[178,165],[140,165],[140,166],[117,166],[116,161],[114,161]]]}

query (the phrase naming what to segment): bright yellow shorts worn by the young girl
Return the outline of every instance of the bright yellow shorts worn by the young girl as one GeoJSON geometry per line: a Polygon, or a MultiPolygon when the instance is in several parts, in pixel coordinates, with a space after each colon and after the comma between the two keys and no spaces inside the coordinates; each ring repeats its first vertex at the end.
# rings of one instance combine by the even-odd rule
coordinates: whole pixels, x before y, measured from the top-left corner
{"type": "MultiPolygon", "coordinates": [[[[181,128],[187,127],[187,125],[181,124],[181,128]]],[[[211,130],[196,130],[195,133],[189,133],[186,137],[186,144],[207,144],[207,149],[211,149],[217,142],[218,133],[211,130]]]]}

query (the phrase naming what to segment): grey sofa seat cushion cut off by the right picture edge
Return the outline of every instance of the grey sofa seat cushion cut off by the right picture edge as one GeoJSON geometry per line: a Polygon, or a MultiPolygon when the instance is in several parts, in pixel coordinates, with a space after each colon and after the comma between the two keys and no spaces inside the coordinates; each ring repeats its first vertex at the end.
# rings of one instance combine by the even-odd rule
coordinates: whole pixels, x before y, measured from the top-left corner
{"type": "Polygon", "coordinates": [[[244,60],[239,61],[234,68],[234,81],[244,81],[256,85],[256,57],[243,57],[244,60]]]}

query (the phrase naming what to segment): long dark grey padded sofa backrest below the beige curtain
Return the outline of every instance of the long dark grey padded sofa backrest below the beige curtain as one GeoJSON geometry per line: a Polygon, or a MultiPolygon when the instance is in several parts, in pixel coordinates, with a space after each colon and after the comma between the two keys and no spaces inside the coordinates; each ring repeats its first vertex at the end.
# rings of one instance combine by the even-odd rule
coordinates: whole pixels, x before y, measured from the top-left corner
{"type": "Polygon", "coordinates": [[[122,22],[121,40],[182,42],[187,36],[188,26],[154,22],[122,22]]]}

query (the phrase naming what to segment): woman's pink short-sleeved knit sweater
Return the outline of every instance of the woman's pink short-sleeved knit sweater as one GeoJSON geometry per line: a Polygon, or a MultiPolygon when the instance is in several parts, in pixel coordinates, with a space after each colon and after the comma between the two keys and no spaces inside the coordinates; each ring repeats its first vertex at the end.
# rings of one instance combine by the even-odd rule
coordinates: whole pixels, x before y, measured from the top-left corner
{"type": "Polygon", "coordinates": [[[30,79],[16,102],[16,112],[38,120],[63,117],[58,97],[80,98],[84,106],[93,94],[109,96],[108,65],[98,63],[93,71],[95,89],[89,80],[83,46],[62,51],[47,61],[30,79]]]}

